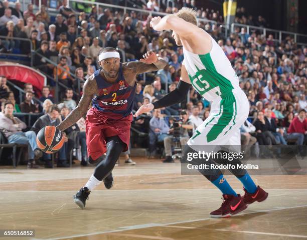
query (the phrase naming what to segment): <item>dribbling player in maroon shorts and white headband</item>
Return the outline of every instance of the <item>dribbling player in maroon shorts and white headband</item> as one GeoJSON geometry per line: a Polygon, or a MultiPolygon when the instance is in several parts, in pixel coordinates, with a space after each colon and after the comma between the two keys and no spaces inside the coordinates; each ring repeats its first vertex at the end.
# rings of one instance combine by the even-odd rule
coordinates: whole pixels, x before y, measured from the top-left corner
{"type": "Polygon", "coordinates": [[[98,60],[101,69],[86,80],[78,106],[57,126],[63,131],[87,112],[87,154],[96,168],[74,195],[74,202],[82,209],[90,191],[102,181],[106,188],[112,187],[112,169],[120,153],[128,149],[136,75],[163,69],[167,64],[152,52],[139,62],[120,63],[119,53],[111,47],[101,50],[98,60]]]}

